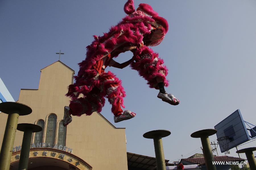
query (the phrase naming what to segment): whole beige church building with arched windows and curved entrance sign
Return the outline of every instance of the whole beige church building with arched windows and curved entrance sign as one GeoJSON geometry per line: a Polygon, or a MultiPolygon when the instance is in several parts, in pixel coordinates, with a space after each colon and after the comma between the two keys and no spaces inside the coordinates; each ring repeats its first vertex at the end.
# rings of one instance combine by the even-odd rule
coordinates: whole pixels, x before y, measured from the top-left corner
{"type": "MultiPolygon", "coordinates": [[[[21,89],[18,103],[28,105],[32,113],[20,116],[18,123],[36,124],[41,132],[33,133],[29,170],[128,170],[125,128],[116,128],[100,113],[80,118],[63,126],[65,96],[73,84],[74,70],[61,61],[43,69],[38,89],[21,89]]],[[[0,146],[7,114],[0,113],[0,146]]],[[[18,169],[23,132],[16,131],[10,169],[18,169]]]]}

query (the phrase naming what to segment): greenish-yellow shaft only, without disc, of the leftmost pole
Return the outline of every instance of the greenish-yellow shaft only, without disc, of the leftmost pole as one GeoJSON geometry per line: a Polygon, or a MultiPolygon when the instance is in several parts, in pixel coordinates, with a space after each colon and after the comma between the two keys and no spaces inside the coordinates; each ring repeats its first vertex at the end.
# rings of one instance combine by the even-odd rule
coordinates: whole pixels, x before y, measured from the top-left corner
{"type": "Polygon", "coordinates": [[[16,135],[16,129],[19,119],[19,111],[14,110],[8,114],[5,134],[0,152],[0,168],[1,170],[9,170],[11,164],[11,157],[13,153],[13,144],[16,135]]]}

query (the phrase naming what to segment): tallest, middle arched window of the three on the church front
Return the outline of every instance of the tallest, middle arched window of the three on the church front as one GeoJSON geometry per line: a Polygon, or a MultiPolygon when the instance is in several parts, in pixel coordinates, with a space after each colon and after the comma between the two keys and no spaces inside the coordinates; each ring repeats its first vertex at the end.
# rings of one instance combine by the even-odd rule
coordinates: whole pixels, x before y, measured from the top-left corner
{"type": "Polygon", "coordinates": [[[55,144],[57,116],[50,114],[47,119],[45,143],[55,144]]]}

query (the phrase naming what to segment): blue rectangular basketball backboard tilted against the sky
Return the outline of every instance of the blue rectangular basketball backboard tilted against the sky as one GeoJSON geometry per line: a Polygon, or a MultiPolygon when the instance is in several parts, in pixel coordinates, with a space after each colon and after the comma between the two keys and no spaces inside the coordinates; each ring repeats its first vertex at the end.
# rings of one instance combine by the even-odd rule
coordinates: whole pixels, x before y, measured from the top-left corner
{"type": "Polygon", "coordinates": [[[228,147],[219,143],[222,153],[251,139],[239,109],[214,126],[214,129],[217,130],[216,135],[218,139],[228,137],[227,144],[225,144],[228,147]]]}

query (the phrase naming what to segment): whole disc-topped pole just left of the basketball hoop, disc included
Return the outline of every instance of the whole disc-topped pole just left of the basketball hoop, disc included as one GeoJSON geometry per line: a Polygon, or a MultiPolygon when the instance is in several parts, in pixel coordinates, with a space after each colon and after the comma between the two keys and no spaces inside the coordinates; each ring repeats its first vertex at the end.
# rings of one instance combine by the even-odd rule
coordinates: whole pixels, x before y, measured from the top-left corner
{"type": "Polygon", "coordinates": [[[202,146],[203,146],[203,154],[205,158],[205,165],[207,170],[216,170],[216,166],[212,163],[214,161],[212,155],[212,148],[210,145],[209,136],[217,133],[216,129],[204,129],[199,130],[191,134],[193,138],[201,138],[202,146]]]}

